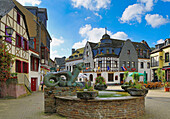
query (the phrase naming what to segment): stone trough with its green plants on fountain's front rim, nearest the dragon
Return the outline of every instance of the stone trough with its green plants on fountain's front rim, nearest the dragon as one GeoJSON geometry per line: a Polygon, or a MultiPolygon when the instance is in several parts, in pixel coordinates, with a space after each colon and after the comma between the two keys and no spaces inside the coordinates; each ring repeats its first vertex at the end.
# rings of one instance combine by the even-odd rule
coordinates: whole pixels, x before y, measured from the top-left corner
{"type": "Polygon", "coordinates": [[[98,91],[95,91],[91,86],[91,82],[88,81],[85,83],[85,87],[77,91],[77,98],[89,100],[94,99],[98,96],[98,91]]]}

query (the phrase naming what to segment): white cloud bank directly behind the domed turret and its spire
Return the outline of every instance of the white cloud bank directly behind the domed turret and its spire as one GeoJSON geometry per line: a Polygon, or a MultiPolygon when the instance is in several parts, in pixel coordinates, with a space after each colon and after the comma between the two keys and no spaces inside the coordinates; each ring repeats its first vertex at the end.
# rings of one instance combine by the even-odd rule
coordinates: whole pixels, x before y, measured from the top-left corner
{"type": "MultiPolygon", "coordinates": [[[[73,48],[84,47],[87,41],[94,43],[99,42],[102,36],[105,34],[105,28],[92,28],[90,24],[86,24],[85,26],[80,28],[79,34],[84,38],[84,40],[75,43],[73,45],[73,48]]],[[[121,31],[115,34],[113,34],[111,31],[107,31],[107,34],[109,34],[111,38],[115,39],[127,39],[128,37],[126,33],[121,31]]]]}

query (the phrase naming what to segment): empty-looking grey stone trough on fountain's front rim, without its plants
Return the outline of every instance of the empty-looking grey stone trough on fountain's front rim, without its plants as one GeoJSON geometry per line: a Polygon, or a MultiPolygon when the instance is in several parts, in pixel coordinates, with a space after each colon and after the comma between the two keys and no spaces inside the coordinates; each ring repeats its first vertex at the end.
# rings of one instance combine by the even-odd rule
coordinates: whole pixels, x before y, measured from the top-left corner
{"type": "Polygon", "coordinates": [[[77,98],[84,100],[94,99],[97,95],[97,91],[77,91],[77,98]]]}

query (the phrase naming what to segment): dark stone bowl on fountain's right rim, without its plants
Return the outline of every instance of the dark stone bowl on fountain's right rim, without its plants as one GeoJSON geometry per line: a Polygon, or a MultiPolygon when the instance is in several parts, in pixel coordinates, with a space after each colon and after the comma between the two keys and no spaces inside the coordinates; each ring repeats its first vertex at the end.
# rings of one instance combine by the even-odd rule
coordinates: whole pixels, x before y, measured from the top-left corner
{"type": "Polygon", "coordinates": [[[147,89],[128,88],[127,91],[131,96],[145,96],[148,93],[147,89]]]}

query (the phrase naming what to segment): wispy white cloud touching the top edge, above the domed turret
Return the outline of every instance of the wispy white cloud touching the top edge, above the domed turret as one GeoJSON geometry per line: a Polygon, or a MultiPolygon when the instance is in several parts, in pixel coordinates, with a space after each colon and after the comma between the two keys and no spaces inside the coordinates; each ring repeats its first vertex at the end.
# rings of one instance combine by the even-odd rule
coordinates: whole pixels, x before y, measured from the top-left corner
{"type": "Polygon", "coordinates": [[[98,11],[101,8],[108,8],[111,0],[71,0],[75,8],[84,7],[92,11],[98,11]]]}

